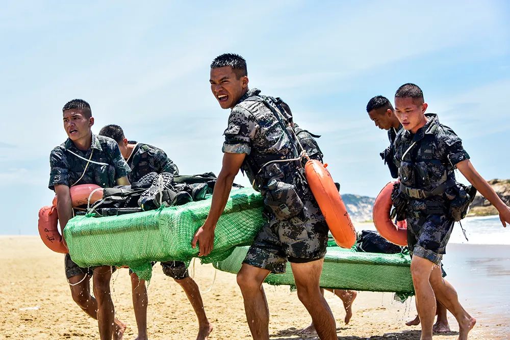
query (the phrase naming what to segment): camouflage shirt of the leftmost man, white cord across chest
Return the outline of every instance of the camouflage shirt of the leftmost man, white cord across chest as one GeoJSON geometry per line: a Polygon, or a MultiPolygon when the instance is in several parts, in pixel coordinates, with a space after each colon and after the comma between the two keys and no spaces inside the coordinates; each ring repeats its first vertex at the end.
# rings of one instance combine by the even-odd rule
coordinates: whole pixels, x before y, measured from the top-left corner
{"type": "Polygon", "coordinates": [[[117,142],[111,138],[94,134],[92,134],[92,143],[87,151],[79,150],[70,139],[56,146],[49,154],[49,166],[48,188],[51,190],[55,190],[57,184],[68,187],[75,184],[95,184],[103,188],[111,188],[116,185],[118,178],[127,176],[130,172],[129,166],[122,158],[117,142]],[[90,159],[93,162],[104,164],[90,162],[87,166],[86,160],[71,152],[86,160],[90,159]],[[87,167],[86,170],[85,167],[87,167]]]}

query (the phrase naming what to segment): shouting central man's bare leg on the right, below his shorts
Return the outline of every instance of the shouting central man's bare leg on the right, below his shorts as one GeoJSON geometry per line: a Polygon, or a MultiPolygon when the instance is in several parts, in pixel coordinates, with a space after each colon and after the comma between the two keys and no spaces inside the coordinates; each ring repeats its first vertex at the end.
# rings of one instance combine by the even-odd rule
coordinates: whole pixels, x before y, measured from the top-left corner
{"type": "Polygon", "coordinates": [[[337,328],[331,309],[321,294],[319,277],[323,259],[308,263],[291,263],[297,296],[307,308],[319,338],[337,340],[337,328]]]}

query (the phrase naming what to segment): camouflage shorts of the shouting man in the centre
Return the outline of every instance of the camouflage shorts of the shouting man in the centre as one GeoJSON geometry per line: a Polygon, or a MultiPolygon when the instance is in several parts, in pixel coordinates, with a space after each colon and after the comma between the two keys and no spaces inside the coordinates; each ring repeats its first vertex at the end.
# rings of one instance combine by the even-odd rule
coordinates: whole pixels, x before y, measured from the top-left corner
{"type": "Polygon", "coordinates": [[[307,263],[324,257],[328,228],[325,221],[266,223],[248,250],[244,263],[253,267],[285,273],[287,260],[307,263]]]}

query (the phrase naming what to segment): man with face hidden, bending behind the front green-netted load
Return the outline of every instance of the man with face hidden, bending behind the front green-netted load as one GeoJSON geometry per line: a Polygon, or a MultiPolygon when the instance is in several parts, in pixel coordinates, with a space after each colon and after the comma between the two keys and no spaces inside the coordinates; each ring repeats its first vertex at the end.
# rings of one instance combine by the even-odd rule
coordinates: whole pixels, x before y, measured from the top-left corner
{"type": "MultiPolygon", "coordinates": [[[[120,152],[131,168],[128,178],[131,183],[138,182],[140,178],[150,172],[162,173],[169,172],[173,175],[179,175],[179,169],[160,148],[155,146],[128,141],[122,128],[119,125],[106,125],[99,131],[99,135],[110,137],[119,145],[120,152]]],[[[182,261],[162,262],[163,273],[179,283],[186,293],[198,319],[197,340],[207,340],[213,326],[207,319],[206,312],[203,309],[202,297],[196,282],[189,276],[188,267],[182,261]]],[[[135,309],[135,319],[138,328],[138,340],[147,338],[147,289],[145,281],[140,280],[138,276],[131,271],[131,289],[133,294],[133,308],[135,309]]]]}

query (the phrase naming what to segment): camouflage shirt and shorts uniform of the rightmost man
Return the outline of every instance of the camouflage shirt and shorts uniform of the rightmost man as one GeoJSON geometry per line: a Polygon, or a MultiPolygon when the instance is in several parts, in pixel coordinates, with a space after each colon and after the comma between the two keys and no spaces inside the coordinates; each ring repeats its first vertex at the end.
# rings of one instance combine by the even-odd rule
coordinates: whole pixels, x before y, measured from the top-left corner
{"type": "Polygon", "coordinates": [[[435,114],[426,114],[416,134],[401,130],[395,139],[400,191],[408,201],[407,244],[411,253],[439,265],[453,228],[445,187],[455,185],[454,167],[469,159],[462,140],[435,114]],[[414,144],[416,142],[416,144],[414,144]],[[414,145],[413,145],[414,144],[414,145]]]}

